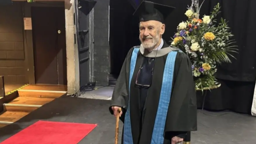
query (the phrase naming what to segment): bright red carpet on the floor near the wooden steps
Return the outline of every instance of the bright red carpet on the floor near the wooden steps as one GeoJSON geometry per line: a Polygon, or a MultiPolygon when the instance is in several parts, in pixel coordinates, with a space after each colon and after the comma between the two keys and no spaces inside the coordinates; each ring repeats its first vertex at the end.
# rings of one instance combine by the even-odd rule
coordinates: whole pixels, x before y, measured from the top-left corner
{"type": "Polygon", "coordinates": [[[1,144],[77,144],[96,126],[40,120],[1,144]]]}

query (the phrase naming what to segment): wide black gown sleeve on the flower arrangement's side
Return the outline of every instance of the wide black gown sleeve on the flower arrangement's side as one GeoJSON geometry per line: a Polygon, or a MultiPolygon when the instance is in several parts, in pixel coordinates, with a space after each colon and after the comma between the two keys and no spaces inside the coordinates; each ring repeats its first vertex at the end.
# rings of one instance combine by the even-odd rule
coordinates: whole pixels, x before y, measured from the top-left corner
{"type": "Polygon", "coordinates": [[[165,131],[171,137],[185,138],[188,132],[197,130],[197,101],[191,62],[183,52],[177,53],[173,80],[165,131]]]}

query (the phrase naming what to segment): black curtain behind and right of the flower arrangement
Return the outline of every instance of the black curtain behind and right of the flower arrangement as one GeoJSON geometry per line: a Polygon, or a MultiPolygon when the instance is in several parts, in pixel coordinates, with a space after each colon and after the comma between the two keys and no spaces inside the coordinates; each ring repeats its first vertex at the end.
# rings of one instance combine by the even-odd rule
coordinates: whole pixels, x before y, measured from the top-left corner
{"type": "Polygon", "coordinates": [[[198,108],[205,102],[207,110],[251,114],[256,77],[256,0],[205,0],[201,14],[209,14],[217,3],[221,6],[218,20],[222,17],[228,21],[239,54],[232,53],[236,59],[230,57],[231,64],[218,66],[216,76],[222,86],[206,95],[198,92],[198,108]]]}

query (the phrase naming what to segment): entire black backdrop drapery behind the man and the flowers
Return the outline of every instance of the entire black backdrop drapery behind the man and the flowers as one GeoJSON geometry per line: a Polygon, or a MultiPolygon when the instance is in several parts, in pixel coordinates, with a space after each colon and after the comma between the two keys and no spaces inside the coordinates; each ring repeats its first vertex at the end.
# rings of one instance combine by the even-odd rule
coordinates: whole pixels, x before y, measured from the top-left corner
{"type": "MultiPolygon", "coordinates": [[[[118,12],[112,11],[112,26],[110,22],[111,72],[118,75],[127,51],[132,46],[140,44],[137,27],[139,22],[138,18],[132,16],[135,9],[132,5],[128,6],[131,0],[111,1],[115,3],[112,3],[112,8],[119,9],[118,12]]],[[[163,38],[168,42],[176,32],[178,24],[186,20],[184,13],[191,0],[150,1],[176,7],[165,21],[166,32],[163,38]]],[[[230,58],[232,64],[218,66],[217,78],[222,86],[211,92],[207,91],[204,109],[232,110],[250,114],[256,77],[256,0],[205,0],[200,15],[209,15],[218,2],[221,6],[218,19],[222,17],[228,21],[235,35],[239,54],[233,54],[237,59],[230,58]]],[[[200,92],[197,95],[198,108],[201,108],[204,96],[200,92]]]]}

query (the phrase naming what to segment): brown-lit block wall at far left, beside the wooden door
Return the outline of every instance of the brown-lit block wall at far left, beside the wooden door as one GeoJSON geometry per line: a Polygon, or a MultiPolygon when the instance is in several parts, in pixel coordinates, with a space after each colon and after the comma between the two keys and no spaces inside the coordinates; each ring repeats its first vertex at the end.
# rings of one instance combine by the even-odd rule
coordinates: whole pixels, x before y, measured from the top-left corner
{"type": "Polygon", "coordinates": [[[21,3],[0,6],[0,76],[5,83],[28,83],[21,3]]]}

